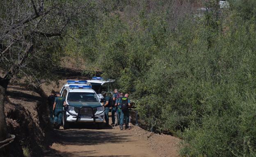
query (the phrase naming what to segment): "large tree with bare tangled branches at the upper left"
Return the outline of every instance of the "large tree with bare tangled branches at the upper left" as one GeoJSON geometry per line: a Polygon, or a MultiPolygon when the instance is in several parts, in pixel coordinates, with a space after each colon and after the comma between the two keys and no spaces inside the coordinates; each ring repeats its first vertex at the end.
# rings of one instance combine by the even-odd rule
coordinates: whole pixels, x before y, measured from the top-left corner
{"type": "Polygon", "coordinates": [[[90,7],[83,0],[0,2],[0,141],[7,138],[4,101],[10,80],[23,75],[40,84],[47,78],[60,62],[59,41],[77,24],[86,25],[90,7]]]}

